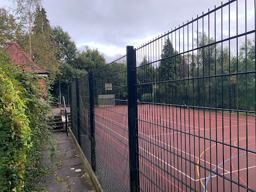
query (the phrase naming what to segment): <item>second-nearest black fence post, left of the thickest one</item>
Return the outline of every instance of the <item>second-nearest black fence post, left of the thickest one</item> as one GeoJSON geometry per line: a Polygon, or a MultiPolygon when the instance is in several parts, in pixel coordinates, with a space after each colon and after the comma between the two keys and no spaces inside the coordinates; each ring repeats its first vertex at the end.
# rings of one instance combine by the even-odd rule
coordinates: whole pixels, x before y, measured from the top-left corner
{"type": "Polygon", "coordinates": [[[90,128],[91,128],[91,160],[92,170],[96,170],[96,157],[95,157],[95,134],[94,134],[94,104],[93,104],[93,73],[89,73],[89,103],[90,103],[90,128]]]}

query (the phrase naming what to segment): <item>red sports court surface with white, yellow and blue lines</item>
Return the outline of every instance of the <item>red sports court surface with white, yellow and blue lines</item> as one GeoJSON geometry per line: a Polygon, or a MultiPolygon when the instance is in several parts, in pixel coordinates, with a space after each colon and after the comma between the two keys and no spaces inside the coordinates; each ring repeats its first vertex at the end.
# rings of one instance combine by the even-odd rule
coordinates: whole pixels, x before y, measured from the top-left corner
{"type": "MultiPolygon", "coordinates": [[[[127,107],[94,111],[96,150],[129,188],[127,107]]],[[[138,105],[140,189],[255,191],[255,133],[255,116],[138,105]]]]}

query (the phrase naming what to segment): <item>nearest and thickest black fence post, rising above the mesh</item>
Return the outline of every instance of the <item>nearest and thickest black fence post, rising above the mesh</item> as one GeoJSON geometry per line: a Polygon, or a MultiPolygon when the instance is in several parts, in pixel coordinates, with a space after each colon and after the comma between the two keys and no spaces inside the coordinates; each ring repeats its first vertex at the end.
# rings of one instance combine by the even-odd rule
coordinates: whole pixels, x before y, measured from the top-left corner
{"type": "Polygon", "coordinates": [[[128,90],[128,131],[130,190],[137,191],[139,186],[139,143],[138,143],[138,108],[136,87],[136,56],[133,46],[126,46],[127,58],[127,90],[128,90]]]}

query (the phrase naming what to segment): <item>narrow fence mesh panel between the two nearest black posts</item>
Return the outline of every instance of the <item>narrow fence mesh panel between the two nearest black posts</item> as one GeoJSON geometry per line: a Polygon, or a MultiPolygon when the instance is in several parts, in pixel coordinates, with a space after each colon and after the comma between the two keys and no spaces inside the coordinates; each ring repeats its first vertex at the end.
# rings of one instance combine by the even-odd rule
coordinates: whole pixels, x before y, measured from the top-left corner
{"type": "Polygon", "coordinates": [[[104,191],[130,188],[126,84],[126,56],[93,73],[96,173],[104,191]]]}

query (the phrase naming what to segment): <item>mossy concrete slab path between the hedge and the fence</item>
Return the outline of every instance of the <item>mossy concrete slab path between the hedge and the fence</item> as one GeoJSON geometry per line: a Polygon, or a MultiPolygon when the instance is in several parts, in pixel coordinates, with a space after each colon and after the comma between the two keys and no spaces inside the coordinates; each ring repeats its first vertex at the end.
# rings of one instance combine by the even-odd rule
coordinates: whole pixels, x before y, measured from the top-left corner
{"type": "Polygon", "coordinates": [[[70,135],[53,133],[51,140],[53,147],[42,151],[42,162],[49,167],[49,173],[37,181],[37,186],[49,192],[96,191],[70,135]]]}

